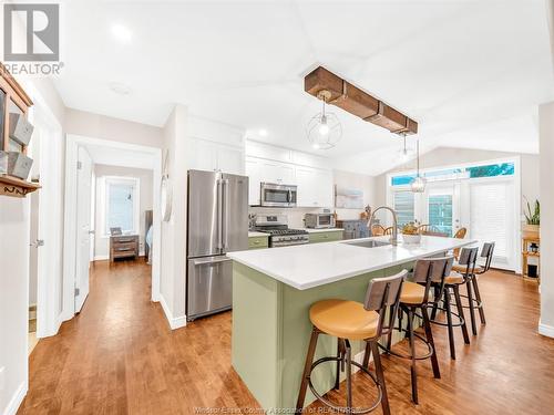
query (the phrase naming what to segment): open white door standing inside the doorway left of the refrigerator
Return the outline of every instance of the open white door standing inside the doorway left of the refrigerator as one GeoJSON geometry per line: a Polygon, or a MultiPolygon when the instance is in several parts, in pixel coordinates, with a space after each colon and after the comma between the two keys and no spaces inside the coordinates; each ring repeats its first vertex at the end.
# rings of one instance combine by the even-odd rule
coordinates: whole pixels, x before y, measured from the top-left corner
{"type": "Polygon", "coordinates": [[[76,170],[76,263],[75,312],[80,312],[89,295],[91,252],[91,183],[92,159],[85,148],[79,147],[76,170]]]}

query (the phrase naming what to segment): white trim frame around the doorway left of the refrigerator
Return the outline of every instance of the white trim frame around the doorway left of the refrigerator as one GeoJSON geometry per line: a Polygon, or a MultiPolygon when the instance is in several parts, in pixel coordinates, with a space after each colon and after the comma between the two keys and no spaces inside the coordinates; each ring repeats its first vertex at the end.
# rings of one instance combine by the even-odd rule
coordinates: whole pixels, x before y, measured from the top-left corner
{"type": "MultiPolygon", "coordinates": [[[[111,139],[100,139],[76,134],[68,134],[65,139],[65,215],[63,240],[63,309],[64,320],[75,314],[74,284],[75,284],[75,253],[78,246],[76,232],[76,163],[79,146],[96,146],[115,151],[141,152],[148,154],[153,170],[153,251],[152,251],[152,301],[160,301],[161,279],[161,206],[160,191],[162,186],[162,149],[157,147],[129,144],[111,139]]],[[[145,168],[145,167],[144,167],[145,168]]]]}

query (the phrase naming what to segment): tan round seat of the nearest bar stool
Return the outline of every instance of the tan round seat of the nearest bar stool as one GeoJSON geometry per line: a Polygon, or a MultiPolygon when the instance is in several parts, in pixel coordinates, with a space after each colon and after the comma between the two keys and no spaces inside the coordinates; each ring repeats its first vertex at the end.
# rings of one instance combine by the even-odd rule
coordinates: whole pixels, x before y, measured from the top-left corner
{"type": "Polygon", "coordinates": [[[311,323],[339,339],[365,340],[377,334],[379,314],[363,304],[347,300],[322,300],[310,308],[311,323]]]}

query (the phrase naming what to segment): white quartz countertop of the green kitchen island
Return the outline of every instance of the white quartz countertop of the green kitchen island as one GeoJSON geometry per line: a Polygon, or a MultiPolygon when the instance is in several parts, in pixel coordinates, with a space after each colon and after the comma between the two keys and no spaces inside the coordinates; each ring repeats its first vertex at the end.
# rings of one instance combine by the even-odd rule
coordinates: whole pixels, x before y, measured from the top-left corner
{"type": "Polygon", "coordinates": [[[397,247],[365,248],[348,243],[370,239],[388,241],[386,236],[229,252],[227,257],[298,290],[307,290],[476,242],[423,236],[420,243],[406,245],[401,238],[399,236],[397,247]]]}

